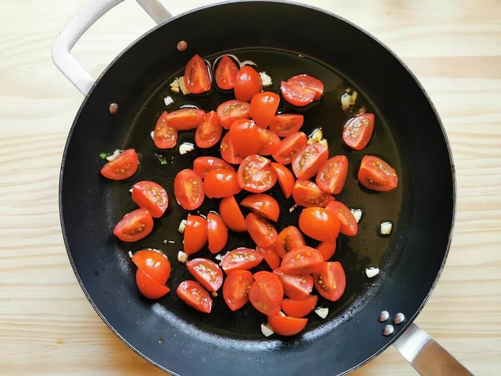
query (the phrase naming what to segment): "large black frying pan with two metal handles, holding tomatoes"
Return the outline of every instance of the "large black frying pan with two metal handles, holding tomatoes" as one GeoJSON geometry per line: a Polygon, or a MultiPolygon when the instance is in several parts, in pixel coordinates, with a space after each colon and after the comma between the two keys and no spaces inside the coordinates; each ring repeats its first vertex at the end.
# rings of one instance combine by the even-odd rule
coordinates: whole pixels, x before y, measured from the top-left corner
{"type": "MultiPolygon", "coordinates": [[[[138,0],[159,25],[132,43],[94,81],[69,52],[85,30],[120,1],[89,5],[64,28],[52,49],[55,64],[85,95],[61,167],[64,241],[83,291],[110,329],[152,364],[183,376],[299,375],[312,370],[340,375],[391,343],[422,375],[471,374],[412,323],[447,256],[455,179],[440,119],[402,61],[347,20],[304,5],[239,1],[172,17],[157,1],[138,0]],[[305,24],[312,27],[302,28],[300,37],[290,32],[294,25],[305,24]],[[188,43],[184,52],[176,49],[181,40],[188,43]],[[280,80],[300,73],[318,77],[326,86],[320,103],[307,109],[305,132],[322,126],[331,154],[348,156],[349,176],[338,199],[363,209],[364,216],[359,234],[350,239],[341,236],[334,255],[346,271],[343,297],[337,302],[320,299],[319,304],[329,308],[328,317],[310,315],[306,329],[294,337],[264,337],[263,315],[250,306],[231,312],[221,296],[214,298],[210,315],[187,307],[172,292],[155,302],[140,296],[129,251],[152,247],[165,252],[173,265],[171,289],[190,278],[175,261],[182,249],[177,224],[187,212],[172,200],[150,236],[132,244],[112,236],[114,225],[135,209],[128,193],[134,182],[157,181],[172,195],[177,171],[191,167],[197,156],[218,152],[196,149],[180,155],[177,148],[156,150],[149,139],[156,118],[165,110],[166,95],[173,95],[173,109],[196,103],[205,111],[231,98],[214,88],[202,98],[169,91],[169,82],[182,75],[195,53],[210,62],[223,53],[251,59],[273,78],[270,90],[275,92],[280,80]],[[363,151],[348,150],[341,140],[342,124],[351,116],[339,102],[346,87],[359,92],[357,106],[376,115],[375,134],[363,151]],[[110,103],[119,106],[113,115],[110,103]],[[139,171],[123,181],[102,178],[99,153],[129,147],[141,154],[139,171]],[[165,164],[159,163],[155,152],[162,153],[165,164]],[[378,155],[395,167],[397,189],[373,193],[358,185],[356,171],[365,154],[378,155]],[[383,220],[393,223],[390,237],[378,234],[383,220]],[[371,266],[381,272],[368,279],[365,269],[371,266]],[[385,322],[379,320],[381,311],[389,312],[385,322]],[[397,313],[404,316],[400,324],[392,322],[397,313]]],[[[298,111],[287,105],[280,110],[298,111]]],[[[178,144],[192,140],[193,133],[182,132],[178,144]]],[[[280,200],[283,213],[277,229],[296,224],[300,210],[289,214],[293,202],[284,200],[277,187],[271,194],[280,200]]],[[[206,201],[200,212],[217,209],[216,203],[206,201]]],[[[231,234],[227,248],[237,246],[253,244],[248,237],[231,234]]],[[[211,256],[204,250],[200,257],[211,256]]]]}

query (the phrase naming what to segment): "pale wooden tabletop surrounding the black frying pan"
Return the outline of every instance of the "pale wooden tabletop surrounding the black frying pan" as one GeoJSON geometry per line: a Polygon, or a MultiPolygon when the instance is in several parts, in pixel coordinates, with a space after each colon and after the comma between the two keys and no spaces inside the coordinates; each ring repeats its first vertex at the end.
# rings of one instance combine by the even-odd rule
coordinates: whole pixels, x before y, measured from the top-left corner
{"type": "MultiPolygon", "coordinates": [[[[81,291],[63,246],[59,168],[83,98],[53,65],[50,49],[86,3],[0,2],[0,374],[164,374],[108,330],[81,291]]],[[[166,1],[173,14],[206,3],[166,1]]],[[[386,43],[436,105],[456,165],[457,217],[442,278],[416,322],[473,373],[499,375],[501,2],[309,3],[386,43]]],[[[97,22],[73,55],[97,77],[152,26],[128,0],[97,22]]],[[[390,347],[353,374],[416,372],[390,347]]]]}

